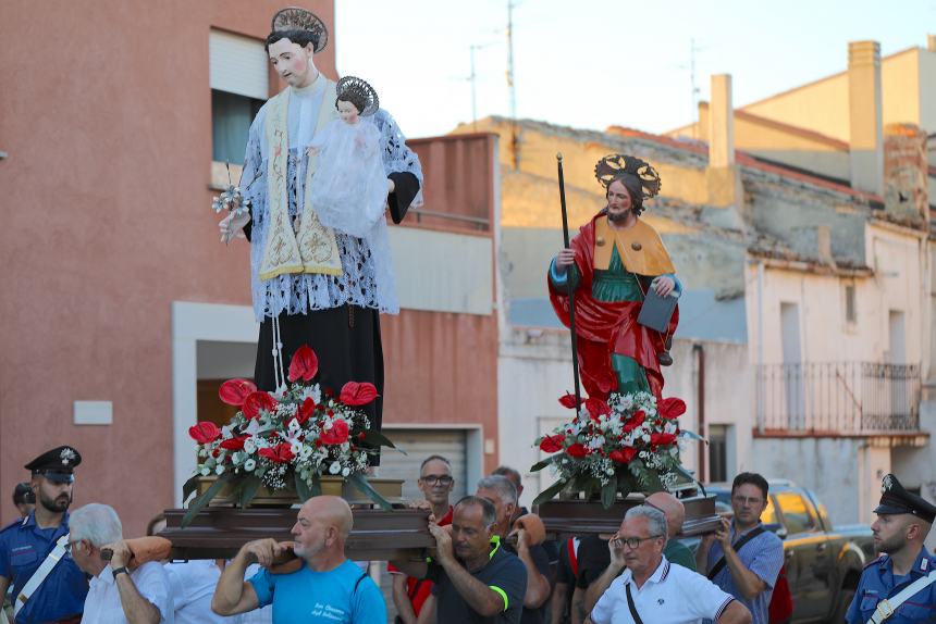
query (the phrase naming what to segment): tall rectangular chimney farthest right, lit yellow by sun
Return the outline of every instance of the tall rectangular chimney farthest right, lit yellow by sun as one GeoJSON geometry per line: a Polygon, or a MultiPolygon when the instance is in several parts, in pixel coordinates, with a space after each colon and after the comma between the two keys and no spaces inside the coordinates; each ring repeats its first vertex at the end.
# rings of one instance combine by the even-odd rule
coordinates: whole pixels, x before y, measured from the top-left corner
{"type": "Polygon", "coordinates": [[[848,109],[851,186],[884,195],[884,137],[880,113],[880,45],[848,45],[848,109]]]}

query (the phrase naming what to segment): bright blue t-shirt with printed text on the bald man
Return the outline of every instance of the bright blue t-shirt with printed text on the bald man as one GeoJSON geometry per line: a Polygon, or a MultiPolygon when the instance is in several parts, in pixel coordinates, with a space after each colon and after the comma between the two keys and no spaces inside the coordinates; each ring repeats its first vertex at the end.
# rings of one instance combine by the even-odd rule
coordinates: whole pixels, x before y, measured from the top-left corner
{"type": "Polygon", "coordinates": [[[352,561],[328,572],[308,565],[291,574],[261,570],[250,583],[260,607],[273,606],[273,624],[386,624],[380,589],[352,561]]]}

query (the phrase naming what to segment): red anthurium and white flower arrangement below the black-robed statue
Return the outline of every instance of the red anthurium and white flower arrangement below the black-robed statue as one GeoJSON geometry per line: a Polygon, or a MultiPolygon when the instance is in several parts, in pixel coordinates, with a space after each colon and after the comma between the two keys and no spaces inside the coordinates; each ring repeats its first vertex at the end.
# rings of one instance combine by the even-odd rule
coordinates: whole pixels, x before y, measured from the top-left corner
{"type": "Polygon", "coordinates": [[[258,390],[247,379],[221,385],[221,401],[239,410],[223,427],[200,422],[188,429],[197,442],[198,465],[185,484],[183,498],[196,489],[200,477],[218,478],[189,506],[183,526],[225,486],[241,507],[246,507],[261,485],[270,491],[295,489],[305,501],[321,494],[322,475],[343,477],[390,509],[365,476],[369,455],[381,446],[393,448],[370,428],[359,409],[377,398],[377,388],[348,382],[335,397],[313,382],[318,370],[315,351],[303,346],[293,355],[291,384],[282,392],[258,390]]]}

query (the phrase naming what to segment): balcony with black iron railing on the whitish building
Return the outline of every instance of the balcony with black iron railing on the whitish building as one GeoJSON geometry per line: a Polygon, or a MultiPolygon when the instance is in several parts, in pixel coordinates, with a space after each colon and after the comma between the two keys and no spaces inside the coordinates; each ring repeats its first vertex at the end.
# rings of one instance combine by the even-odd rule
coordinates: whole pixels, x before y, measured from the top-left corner
{"type": "Polygon", "coordinates": [[[878,362],[762,364],[756,435],[879,436],[920,430],[920,366],[878,362]]]}

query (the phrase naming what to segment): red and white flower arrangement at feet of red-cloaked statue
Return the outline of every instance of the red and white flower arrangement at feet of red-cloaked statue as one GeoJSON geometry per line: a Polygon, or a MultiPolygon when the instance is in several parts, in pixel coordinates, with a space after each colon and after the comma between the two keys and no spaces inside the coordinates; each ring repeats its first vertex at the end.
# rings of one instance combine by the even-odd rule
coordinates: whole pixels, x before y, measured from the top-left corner
{"type": "Polygon", "coordinates": [[[701,439],[679,428],[677,419],[686,412],[681,399],[658,403],[650,392],[612,392],[607,401],[559,399],[576,410],[571,422],[537,439],[543,452],[554,453],[532,466],[549,467],[557,481],[543,490],[534,504],[552,499],[562,490],[601,492],[605,508],[617,494],[672,489],[677,481],[692,475],[679,463],[679,441],[701,439]]]}

